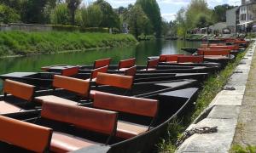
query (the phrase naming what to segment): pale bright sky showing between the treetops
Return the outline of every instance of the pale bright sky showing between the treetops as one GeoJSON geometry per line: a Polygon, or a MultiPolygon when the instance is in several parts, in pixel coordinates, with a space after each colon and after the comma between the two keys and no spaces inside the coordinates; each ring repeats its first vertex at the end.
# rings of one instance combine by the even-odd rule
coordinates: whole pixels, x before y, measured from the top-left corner
{"type": "MultiPolygon", "coordinates": [[[[84,0],[84,3],[91,3],[95,0],[84,0]]],[[[119,8],[120,6],[126,7],[130,3],[135,3],[136,0],[106,0],[112,5],[113,8],[119,8]]],[[[190,0],[157,0],[162,17],[168,21],[175,19],[175,14],[179,8],[188,6],[190,0]]],[[[214,8],[216,5],[228,3],[230,5],[240,5],[241,0],[207,0],[210,8],[214,8]]]]}

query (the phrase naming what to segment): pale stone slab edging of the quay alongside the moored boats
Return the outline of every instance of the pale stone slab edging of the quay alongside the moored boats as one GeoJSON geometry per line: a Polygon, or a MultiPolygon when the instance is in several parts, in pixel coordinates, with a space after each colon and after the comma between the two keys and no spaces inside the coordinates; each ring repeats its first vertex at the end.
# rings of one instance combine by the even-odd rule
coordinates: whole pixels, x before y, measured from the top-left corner
{"type": "MultiPolygon", "coordinates": [[[[247,82],[247,80],[255,50],[256,44],[253,42],[247,48],[245,57],[232,71],[232,75],[227,78],[228,82],[225,83],[224,88],[212,99],[212,102],[201,113],[201,116],[187,128],[187,130],[190,130],[194,127],[217,127],[217,132],[195,133],[183,142],[177,152],[233,152],[230,149],[235,131],[244,128],[241,127],[238,120],[240,112],[241,114],[244,113],[241,116],[244,116],[246,121],[252,117],[252,114],[249,114],[248,111],[242,111],[242,104],[245,100],[245,91],[249,89],[248,85],[252,84],[254,86],[254,83],[247,82]]],[[[252,129],[252,127],[249,127],[248,130],[252,131],[252,129]]],[[[240,134],[238,135],[241,137],[240,134]]],[[[255,137],[251,136],[255,140],[255,137]]]]}

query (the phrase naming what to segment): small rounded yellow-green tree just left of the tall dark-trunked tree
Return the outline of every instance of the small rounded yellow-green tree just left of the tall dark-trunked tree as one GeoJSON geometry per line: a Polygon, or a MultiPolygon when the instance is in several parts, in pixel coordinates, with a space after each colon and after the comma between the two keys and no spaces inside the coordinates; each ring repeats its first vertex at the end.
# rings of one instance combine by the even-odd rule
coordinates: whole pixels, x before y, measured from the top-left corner
{"type": "Polygon", "coordinates": [[[55,25],[69,25],[70,15],[67,8],[67,3],[57,4],[51,13],[51,23],[55,25]]]}

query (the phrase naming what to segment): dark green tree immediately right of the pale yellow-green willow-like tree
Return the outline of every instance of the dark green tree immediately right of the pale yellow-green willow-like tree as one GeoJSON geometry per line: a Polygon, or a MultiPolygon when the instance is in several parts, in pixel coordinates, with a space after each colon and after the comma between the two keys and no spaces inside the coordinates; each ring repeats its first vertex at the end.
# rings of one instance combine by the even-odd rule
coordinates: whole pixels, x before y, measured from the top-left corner
{"type": "Polygon", "coordinates": [[[120,27],[119,15],[113,11],[112,6],[104,0],[97,0],[95,5],[98,5],[102,10],[102,27],[120,27]]]}

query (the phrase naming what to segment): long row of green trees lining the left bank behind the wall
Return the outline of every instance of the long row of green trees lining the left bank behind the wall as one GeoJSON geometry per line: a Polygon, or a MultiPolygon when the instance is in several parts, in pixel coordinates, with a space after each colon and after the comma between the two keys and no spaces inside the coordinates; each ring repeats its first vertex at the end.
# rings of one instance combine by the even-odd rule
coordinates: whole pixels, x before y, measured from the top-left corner
{"type": "MultiPolygon", "coordinates": [[[[0,24],[11,22],[111,28],[113,33],[128,28],[131,34],[160,37],[168,24],[162,21],[156,0],[137,0],[118,9],[105,0],[88,5],[82,0],[0,0],[0,24]],[[163,24],[166,24],[162,26],[163,24]],[[128,25],[124,27],[124,25],[128,25]]],[[[127,30],[126,30],[127,31],[127,30]]]]}

